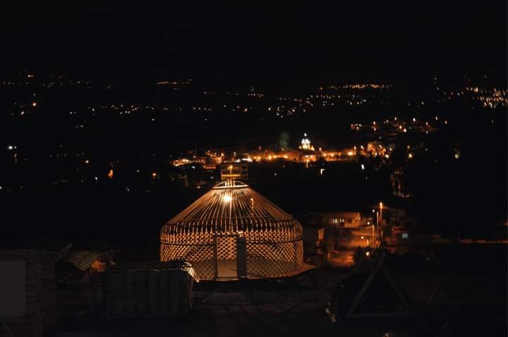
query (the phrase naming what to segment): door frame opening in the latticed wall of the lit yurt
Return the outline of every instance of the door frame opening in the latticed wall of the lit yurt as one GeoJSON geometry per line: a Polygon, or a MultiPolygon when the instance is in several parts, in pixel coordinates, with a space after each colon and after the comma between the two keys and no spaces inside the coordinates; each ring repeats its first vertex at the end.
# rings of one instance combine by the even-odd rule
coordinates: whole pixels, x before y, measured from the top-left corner
{"type": "Polygon", "coordinates": [[[236,279],[246,276],[246,240],[240,235],[214,236],[215,279],[236,279]]]}

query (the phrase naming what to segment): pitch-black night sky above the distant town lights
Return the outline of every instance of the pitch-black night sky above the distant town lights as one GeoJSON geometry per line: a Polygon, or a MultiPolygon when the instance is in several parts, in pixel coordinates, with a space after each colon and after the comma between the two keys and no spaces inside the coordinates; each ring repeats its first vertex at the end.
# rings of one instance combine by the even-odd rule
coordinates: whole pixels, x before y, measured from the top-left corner
{"type": "Polygon", "coordinates": [[[1,5],[3,68],[134,78],[220,73],[389,80],[507,73],[502,0],[146,2],[1,5]]]}

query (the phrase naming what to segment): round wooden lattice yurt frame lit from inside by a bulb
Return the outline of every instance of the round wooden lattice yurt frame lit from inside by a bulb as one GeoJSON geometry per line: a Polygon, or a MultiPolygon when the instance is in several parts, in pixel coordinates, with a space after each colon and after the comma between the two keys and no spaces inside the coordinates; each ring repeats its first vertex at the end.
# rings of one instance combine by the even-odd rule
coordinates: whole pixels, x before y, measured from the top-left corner
{"type": "Polygon", "coordinates": [[[200,279],[294,276],[302,227],[245,183],[219,183],[162,227],[161,261],[185,259],[200,279]]]}

